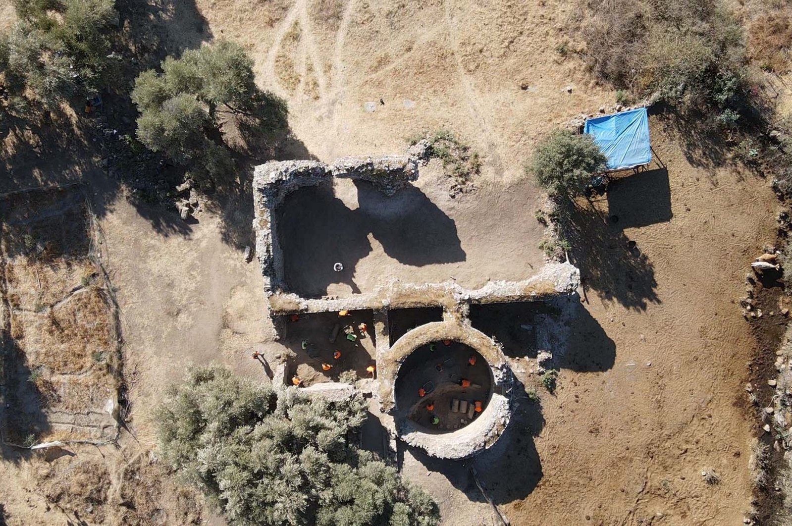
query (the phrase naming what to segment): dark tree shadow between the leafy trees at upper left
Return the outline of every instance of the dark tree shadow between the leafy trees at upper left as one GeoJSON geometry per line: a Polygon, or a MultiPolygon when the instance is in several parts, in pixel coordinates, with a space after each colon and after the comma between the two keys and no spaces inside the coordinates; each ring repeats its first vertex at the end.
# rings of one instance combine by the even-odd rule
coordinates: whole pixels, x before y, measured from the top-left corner
{"type": "Polygon", "coordinates": [[[101,105],[86,113],[85,101],[74,97],[73,111],[31,111],[25,119],[6,119],[0,166],[10,177],[0,181],[0,192],[82,181],[90,186],[98,216],[112,210],[123,192],[154,230],[185,235],[190,228],[177,214],[158,210],[159,197],[181,176],[135,144],[137,114],[129,90],[140,71],[158,66],[169,53],[200,46],[211,32],[194,2],[119,0],[115,7],[119,23],[110,38],[123,60],[112,86],[101,93],[101,105]]]}

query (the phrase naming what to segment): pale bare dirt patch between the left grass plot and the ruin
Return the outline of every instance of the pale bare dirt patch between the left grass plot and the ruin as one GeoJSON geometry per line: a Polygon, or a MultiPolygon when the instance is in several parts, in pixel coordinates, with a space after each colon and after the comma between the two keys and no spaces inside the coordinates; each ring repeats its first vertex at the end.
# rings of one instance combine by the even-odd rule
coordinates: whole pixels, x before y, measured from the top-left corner
{"type": "Polygon", "coordinates": [[[124,367],[134,384],[133,425],[141,443],[153,446],[154,406],[189,365],[216,362],[261,377],[249,359],[249,349],[265,341],[261,276],[222,242],[214,217],[199,215],[188,234],[162,236],[125,200],[113,208],[102,227],[118,289],[124,367]]]}

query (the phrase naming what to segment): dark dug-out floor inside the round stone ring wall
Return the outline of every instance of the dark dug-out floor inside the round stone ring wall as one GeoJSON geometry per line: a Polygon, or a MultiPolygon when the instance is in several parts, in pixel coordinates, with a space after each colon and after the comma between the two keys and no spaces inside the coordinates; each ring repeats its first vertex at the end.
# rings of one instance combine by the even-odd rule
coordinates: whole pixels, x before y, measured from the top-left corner
{"type": "Polygon", "coordinates": [[[492,373],[484,358],[467,345],[447,343],[437,341],[414,350],[396,377],[398,414],[406,415],[426,433],[465,427],[478,416],[469,406],[481,402],[483,410],[492,394],[492,373]]]}

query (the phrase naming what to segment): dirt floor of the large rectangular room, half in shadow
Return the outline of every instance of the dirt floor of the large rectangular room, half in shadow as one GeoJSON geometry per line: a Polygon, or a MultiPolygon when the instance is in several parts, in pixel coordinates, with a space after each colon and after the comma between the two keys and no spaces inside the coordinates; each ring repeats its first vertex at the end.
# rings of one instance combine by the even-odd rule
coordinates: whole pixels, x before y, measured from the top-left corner
{"type": "Polygon", "coordinates": [[[539,192],[530,182],[458,196],[448,186],[437,162],[392,197],[348,180],[291,193],[278,208],[287,286],[308,297],[344,296],[374,292],[393,279],[453,279],[475,289],[533,276],[543,253],[527,240],[541,238],[543,226],[533,218],[539,192]],[[341,273],[333,272],[336,261],[341,273]]]}

